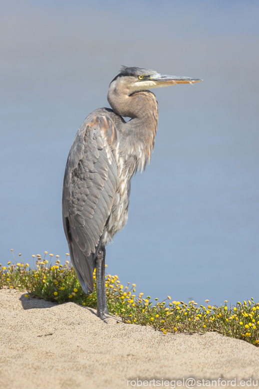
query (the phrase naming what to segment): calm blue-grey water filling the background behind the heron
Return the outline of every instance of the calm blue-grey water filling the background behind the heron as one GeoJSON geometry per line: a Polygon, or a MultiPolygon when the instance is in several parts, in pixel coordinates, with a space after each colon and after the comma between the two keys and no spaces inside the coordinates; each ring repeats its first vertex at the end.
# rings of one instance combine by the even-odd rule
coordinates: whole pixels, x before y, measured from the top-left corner
{"type": "Polygon", "coordinates": [[[152,299],[259,299],[258,3],[40,3],[1,6],[0,262],[11,248],[29,263],[67,252],[74,135],[108,106],[120,65],[142,66],[204,81],[154,90],[154,153],[132,179],[109,273],[152,299]]]}

